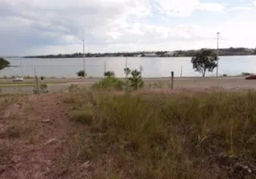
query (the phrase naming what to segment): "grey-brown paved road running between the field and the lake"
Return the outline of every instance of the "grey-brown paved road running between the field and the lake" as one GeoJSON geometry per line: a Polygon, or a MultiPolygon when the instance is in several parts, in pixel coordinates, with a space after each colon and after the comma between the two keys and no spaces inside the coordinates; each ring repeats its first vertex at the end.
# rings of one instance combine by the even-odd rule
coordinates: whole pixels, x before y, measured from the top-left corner
{"type": "MultiPolygon", "coordinates": [[[[46,82],[50,83],[48,89],[50,91],[60,91],[67,89],[71,84],[78,84],[90,87],[93,83],[100,79],[47,79],[46,82]]],[[[33,82],[33,79],[26,79],[24,83],[33,82]]],[[[153,86],[154,88],[169,88],[170,78],[150,78],[143,79],[146,86],[153,86]]],[[[0,80],[3,83],[10,83],[12,80],[0,80]]],[[[189,90],[202,90],[215,87],[223,88],[225,90],[243,90],[253,89],[256,90],[256,80],[246,81],[243,77],[221,77],[218,78],[175,78],[176,89],[189,89],[189,90]]],[[[34,87],[7,87],[3,88],[2,92],[14,93],[14,92],[32,92],[34,87]]]]}

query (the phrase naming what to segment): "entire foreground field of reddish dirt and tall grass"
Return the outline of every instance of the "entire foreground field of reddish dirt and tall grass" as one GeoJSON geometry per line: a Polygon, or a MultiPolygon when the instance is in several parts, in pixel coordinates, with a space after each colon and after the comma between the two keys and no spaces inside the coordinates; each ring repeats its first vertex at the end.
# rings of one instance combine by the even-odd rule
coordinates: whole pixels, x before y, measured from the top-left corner
{"type": "Polygon", "coordinates": [[[1,96],[0,114],[0,178],[256,178],[253,91],[73,88],[1,96]]]}

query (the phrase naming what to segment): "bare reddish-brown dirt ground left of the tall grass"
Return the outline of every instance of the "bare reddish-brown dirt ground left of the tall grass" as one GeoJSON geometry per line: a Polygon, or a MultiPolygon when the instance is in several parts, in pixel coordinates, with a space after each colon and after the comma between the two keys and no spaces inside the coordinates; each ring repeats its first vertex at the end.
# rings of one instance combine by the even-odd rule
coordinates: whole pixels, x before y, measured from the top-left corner
{"type": "Polygon", "coordinates": [[[22,98],[0,110],[0,178],[61,178],[62,146],[72,132],[60,95],[22,98]],[[68,129],[68,130],[67,130],[68,129]]]}

